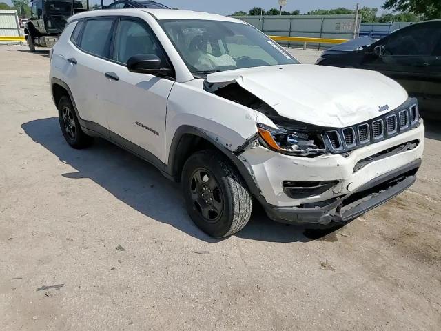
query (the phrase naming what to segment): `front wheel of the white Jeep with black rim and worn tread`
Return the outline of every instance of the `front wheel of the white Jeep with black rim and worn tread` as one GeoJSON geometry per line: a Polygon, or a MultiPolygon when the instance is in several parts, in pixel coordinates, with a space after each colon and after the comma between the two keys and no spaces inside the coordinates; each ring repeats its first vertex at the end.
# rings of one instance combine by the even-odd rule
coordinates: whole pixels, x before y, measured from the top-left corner
{"type": "Polygon", "coordinates": [[[227,237],[248,223],[251,194],[236,168],[216,150],[192,154],[181,182],[189,217],[203,232],[227,237]]]}

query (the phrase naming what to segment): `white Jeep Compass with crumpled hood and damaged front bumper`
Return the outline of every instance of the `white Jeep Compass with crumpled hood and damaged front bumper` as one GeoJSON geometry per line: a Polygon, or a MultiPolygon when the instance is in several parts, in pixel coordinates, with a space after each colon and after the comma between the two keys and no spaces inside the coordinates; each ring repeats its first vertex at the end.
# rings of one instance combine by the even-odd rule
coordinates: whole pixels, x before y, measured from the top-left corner
{"type": "Polygon", "coordinates": [[[421,163],[418,103],[398,83],[301,65],[216,14],[76,14],[50,87],[70,146],[103,137],[149,161],[213,237],[242,229],[253,203],[285,223],[345,223],[408,188],[421,163]]]}

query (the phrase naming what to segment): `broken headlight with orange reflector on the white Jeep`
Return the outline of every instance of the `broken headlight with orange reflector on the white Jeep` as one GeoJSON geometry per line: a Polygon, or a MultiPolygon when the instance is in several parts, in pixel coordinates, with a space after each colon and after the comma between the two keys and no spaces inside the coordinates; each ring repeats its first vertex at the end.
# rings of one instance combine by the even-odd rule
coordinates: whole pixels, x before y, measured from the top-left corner
{"type": "Polygon", "coordinates": [[[298,157],[316,157],[327,152],[322,134],[317,129],[298,126],[278,126],[277,129],[258,124],[260,143],[282,154],[298,157]]]}

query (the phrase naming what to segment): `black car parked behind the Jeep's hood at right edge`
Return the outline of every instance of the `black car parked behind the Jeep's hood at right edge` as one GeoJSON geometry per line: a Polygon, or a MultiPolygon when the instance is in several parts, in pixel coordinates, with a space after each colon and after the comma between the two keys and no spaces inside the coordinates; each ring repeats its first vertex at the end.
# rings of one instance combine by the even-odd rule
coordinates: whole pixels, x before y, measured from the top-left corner
{"type": "Polygon", "coordinates": [[[422,111],[440,116],[441,20],[404,27],[362,50],[325,51],[316,64],[381,72],[417,97],[422,111]]]}

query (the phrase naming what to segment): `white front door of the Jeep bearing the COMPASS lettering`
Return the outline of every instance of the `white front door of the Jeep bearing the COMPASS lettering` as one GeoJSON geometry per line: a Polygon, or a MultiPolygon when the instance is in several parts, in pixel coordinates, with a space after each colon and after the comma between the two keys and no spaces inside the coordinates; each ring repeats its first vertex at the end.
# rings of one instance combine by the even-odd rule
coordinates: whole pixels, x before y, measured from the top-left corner
{"type": "Polygon", "coordinates": [[[121,17],[116,27],[113,62],[106,63],[104,69],[114,75],[107,79],[110,134],[120,144],[133,149],[133,143],[164,162],[165,115],[174,77],[129,72],[127,60],[136,54],[155,54],[172,68],[147,22],[121,17]]]}

